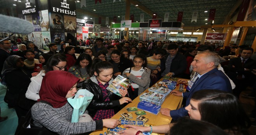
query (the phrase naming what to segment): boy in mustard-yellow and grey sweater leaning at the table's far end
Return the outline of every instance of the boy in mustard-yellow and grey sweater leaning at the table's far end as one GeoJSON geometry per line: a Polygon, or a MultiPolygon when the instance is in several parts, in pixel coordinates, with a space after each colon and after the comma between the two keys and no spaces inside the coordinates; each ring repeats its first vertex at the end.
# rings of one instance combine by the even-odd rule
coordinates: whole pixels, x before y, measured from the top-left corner
{"type": "Polygon", "coordinates": [[[153,56],[147,57],[147,68],[151,69],[150,87],[155,84],[157,80],[157,73],[161,71],[161,57],[164,55],[163,49],[157,48],[153,51],[153,56]]]}

